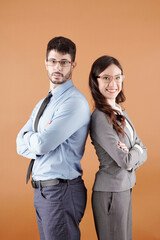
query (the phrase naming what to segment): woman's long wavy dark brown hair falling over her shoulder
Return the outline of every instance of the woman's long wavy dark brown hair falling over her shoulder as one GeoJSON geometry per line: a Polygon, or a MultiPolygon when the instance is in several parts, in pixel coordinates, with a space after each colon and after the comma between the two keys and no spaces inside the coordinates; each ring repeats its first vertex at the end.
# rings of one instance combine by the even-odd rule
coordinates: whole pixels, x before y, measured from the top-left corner
{"type": "MultiPolygon", "coordinates": [[[[123,69],[119,61],[111,56],[102,56],[98,58],[91,67],[91,72],[89,75],[89,86],[91,90],[92,97],[95,102],[95,108],[104,112],[106,116],[109,118],[113,127],[117,133],[120,133],[124,136],[124,126],[125,126],[125,117],[120,114],[118,110],[113,109],[106,101],[106,98],[101,94],[99,91],[97,76],[101,72],[103,72],[107,67],[111,64],[115,64],[122,72],[123,69]]],[[[116,103],[122,103],[126,100],[126,97],[123,93],[123,83],[122,83],[122,90],[116,97],[116,103]]]]}

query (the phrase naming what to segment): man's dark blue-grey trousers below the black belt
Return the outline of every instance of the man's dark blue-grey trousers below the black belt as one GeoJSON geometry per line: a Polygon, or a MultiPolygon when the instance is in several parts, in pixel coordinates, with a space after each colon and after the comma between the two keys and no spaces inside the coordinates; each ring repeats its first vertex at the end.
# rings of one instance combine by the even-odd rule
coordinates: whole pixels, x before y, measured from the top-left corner
{"type": "Polygon", "coordinates": [[[34,207],[41,240],[80,240],[87,191],[81,177],[34,189],[34,207]]]}

